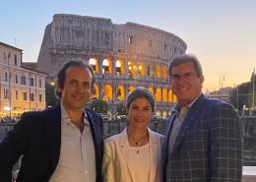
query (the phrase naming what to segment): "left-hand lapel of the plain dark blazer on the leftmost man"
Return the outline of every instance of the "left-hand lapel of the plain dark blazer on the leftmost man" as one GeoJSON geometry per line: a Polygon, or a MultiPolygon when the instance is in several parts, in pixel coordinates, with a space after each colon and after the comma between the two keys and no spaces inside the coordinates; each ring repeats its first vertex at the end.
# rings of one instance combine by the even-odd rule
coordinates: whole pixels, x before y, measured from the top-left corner
{"type": "Polygon", "coordinates": [[[61,144],[61,109],[60,105],[56,107],[45,110],[44,123],[45,123],[45,133],[48,145],[48,151],[51,156],[52,170],[55,169],[60,154],[60,144],[61,144]]]}

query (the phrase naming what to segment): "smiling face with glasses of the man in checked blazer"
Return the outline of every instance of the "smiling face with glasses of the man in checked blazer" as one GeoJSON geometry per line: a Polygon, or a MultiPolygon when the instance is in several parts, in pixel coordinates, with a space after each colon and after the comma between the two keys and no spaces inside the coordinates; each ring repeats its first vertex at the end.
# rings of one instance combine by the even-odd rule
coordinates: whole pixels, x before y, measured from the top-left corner
{"type": "Polygon", "coordinates": [[[201,92],[204,76],[198,76],[193,63],[186,62],[171,69],[170,84],[180,107],[191,103],[201,92]]]}

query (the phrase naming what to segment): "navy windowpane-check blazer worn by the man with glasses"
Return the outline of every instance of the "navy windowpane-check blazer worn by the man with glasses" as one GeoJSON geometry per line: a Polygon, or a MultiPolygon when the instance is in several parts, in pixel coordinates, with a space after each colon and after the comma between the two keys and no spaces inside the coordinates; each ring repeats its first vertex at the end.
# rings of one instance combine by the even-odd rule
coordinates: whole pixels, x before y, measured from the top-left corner
{"type": "Polygon", "coordinates": [[[241,180],[243,130],[231,105],[202,94],[189,109],[169,153],[174,119],[172,115],[166,128],[163,182],[241,180]]]}

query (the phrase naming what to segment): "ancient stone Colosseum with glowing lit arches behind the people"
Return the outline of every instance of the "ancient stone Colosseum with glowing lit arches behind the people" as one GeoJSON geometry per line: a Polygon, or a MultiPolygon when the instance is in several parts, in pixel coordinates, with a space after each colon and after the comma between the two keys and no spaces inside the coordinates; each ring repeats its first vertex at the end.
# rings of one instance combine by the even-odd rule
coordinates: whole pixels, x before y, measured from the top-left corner
{"type": "Polygon", "coordinates": [[[96,73],[94,98],[105,100],[111,112],[129,91],[143,86],[156,97],[157,115],[167,116],[176,102],[167,75],[167,62],[186,51],[177,35],[134,23],[56,14],[47,25],[35,68],[55,78],[70,60],[92,65],[96,73]]]}

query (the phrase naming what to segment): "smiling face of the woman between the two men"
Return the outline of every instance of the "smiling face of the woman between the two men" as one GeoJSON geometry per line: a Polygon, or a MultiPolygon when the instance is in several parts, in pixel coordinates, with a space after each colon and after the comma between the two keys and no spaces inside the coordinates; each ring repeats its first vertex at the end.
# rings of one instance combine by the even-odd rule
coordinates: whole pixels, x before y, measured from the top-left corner
{"type": "Polygon", "coordinates": [[[145,97],[135,98],[127,110],[131,128],[146,129],[152,119],[153,110],[145,97]]]}

